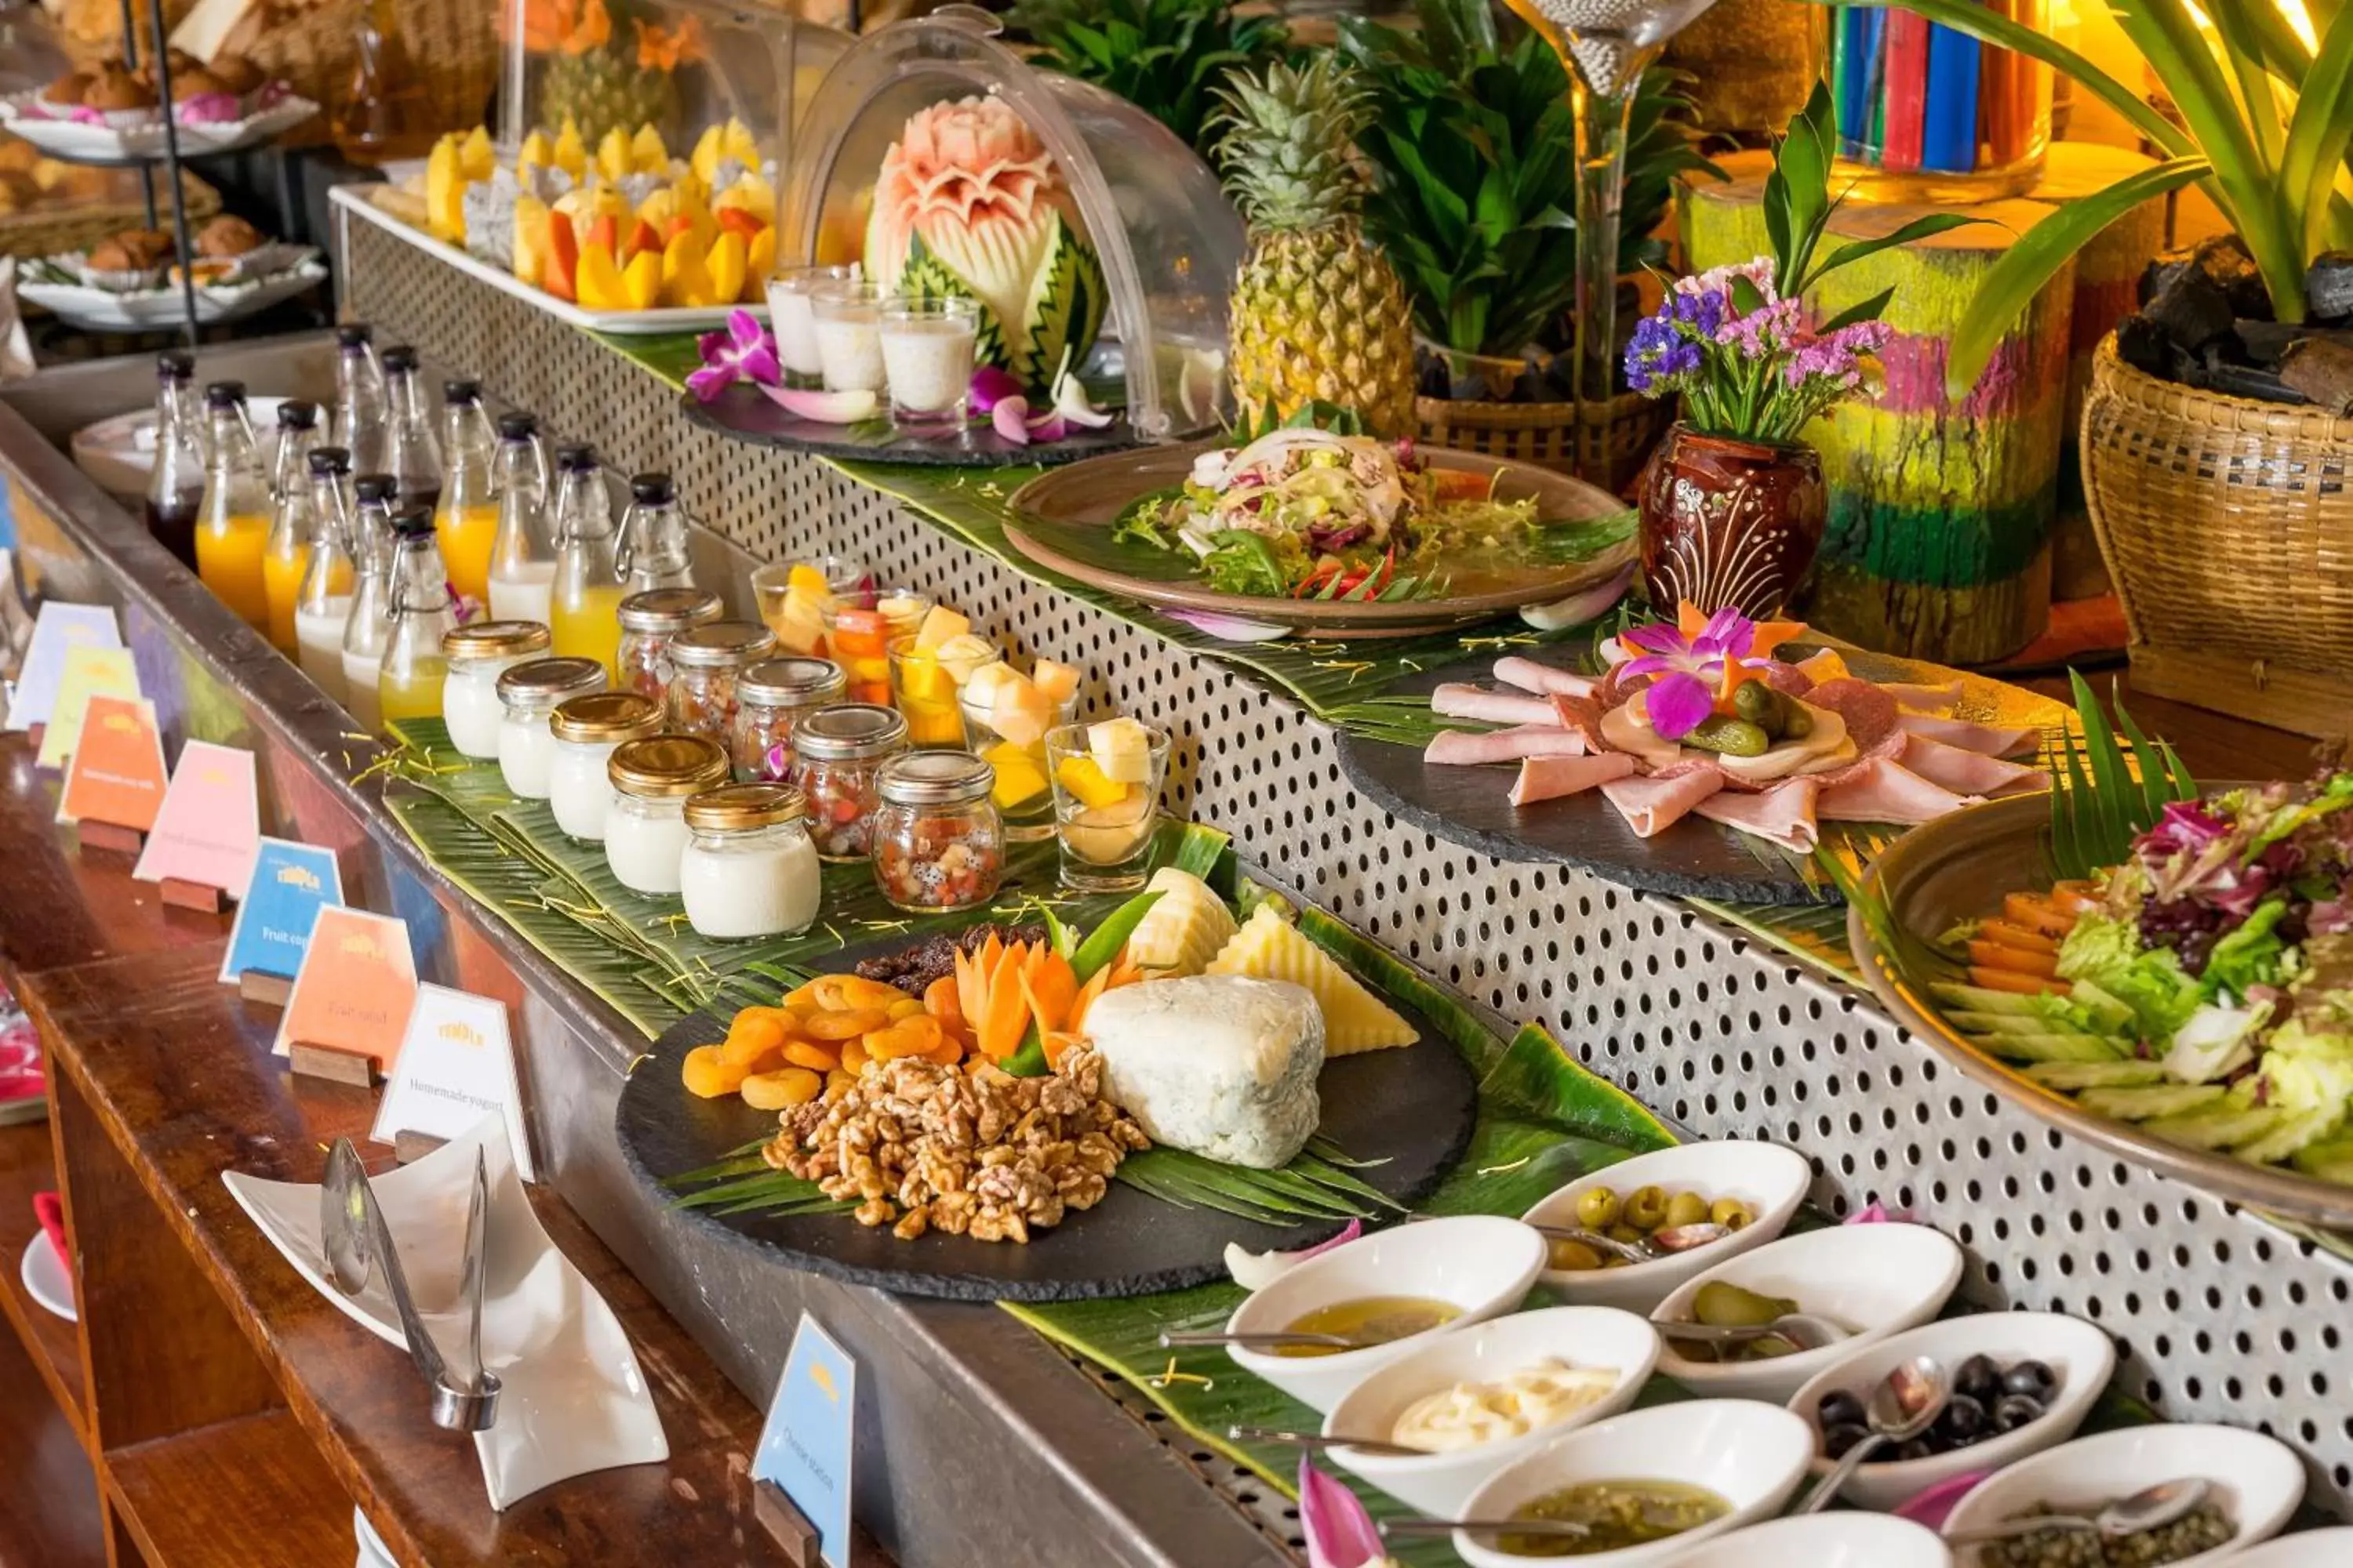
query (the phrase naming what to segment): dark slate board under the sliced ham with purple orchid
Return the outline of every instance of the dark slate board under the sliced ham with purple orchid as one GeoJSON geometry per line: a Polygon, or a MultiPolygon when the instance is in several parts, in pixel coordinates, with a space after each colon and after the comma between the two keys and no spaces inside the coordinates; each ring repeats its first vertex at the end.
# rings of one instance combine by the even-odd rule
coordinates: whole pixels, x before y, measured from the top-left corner
{"type": "MultiPolygon", "coordinates": [[[[1814,651],[1819,644],[1798,644],[1814,651]]],[[[1584,668],[1574,642],[1551,649],[1515,649],[1539,663],[1584,668]]],[[[1939,686],[1962,682],[1960,717],[2002,726],[2035,726],[2064,733],[2066,708],[2052,698],[1944,665],[1840,646],[1847,668],[1864,679],[1939,686]]],[[[1398,682],[1393,696],[1424,696],[1442,682],[1501,686],[1497,656],[1468,658],[1398,682]]],[[[1687,816],[1666,832],[1640,839],[1600,790],[1548,799],[1525,811],[1511,804],[1518,762],[1489,766],[1428,766],[1421,748],[1367,741],[1341,731],[1339,762],[1358,790],[1402,823],[1499,860],[1558,860],[1647,893],[1708,898],[1715,903],[1819,905],[1838,903],[1826,882],[1809,882],[1786,851],[1687,816]]],[[[1835,842],[1840,823],[1824,823],[1835,842]]]]}

